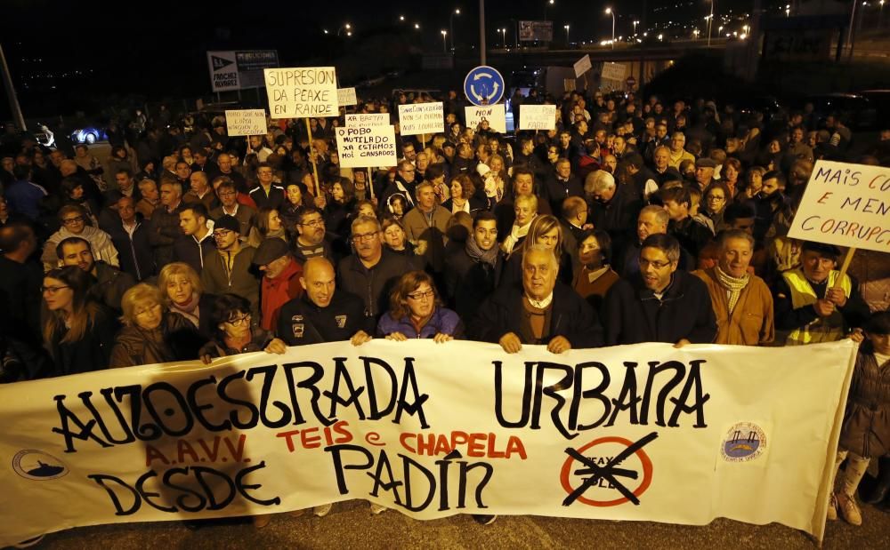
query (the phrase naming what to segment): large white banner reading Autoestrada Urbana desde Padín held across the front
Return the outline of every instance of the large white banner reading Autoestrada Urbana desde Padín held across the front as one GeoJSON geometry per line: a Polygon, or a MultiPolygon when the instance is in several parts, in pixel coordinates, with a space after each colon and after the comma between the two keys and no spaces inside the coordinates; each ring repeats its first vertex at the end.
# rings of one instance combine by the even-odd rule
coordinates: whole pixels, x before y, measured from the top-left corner
{"type": "Polygon", "coordinates": [[[352,498],[821,538],[856,349],[375,339],[5,384],[0,545],[352,498]]]}

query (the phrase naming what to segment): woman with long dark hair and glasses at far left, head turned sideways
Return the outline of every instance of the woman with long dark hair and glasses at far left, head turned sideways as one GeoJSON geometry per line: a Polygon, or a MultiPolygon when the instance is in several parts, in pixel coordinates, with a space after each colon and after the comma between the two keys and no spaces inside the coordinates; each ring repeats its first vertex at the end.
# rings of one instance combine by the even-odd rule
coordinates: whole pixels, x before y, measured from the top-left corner
{"type": "Polygon", "coordinates": [[[119,325],[111,312],[89,296],[93,278],[69,266],[44,276],[44,345],[55,363],[53,376],[109,367],[119,325]]]}

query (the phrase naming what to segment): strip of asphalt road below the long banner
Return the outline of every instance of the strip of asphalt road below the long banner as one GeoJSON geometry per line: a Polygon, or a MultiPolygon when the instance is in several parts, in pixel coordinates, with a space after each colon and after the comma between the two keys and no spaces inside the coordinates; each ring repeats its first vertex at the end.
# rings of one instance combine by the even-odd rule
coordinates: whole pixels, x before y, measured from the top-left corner
{"type": "MultiPolygon", "coordinates": [[[[76,505],[75,505],[76,506],[76,505]]],[[[890,548],[890,514],[863,506],[863,525],[829,522],[825,548],[890,548]]],[[[418,522],[397,512],[372,515],[351,500],[327,517],[273,516],[256,530],[247,520],[228,520],[190,530],[181,522],[129,523],[47,535],[36,548],[814,548],[805,533],[778,524],[716,520],[707,526],[501,516],[482,526],[467,515],[418,522]]]]}

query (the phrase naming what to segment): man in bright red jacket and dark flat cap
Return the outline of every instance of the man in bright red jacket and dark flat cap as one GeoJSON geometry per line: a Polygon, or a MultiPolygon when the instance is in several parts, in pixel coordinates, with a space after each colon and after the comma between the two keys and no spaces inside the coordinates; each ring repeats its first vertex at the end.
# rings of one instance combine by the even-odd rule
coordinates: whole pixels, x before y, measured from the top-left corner
{"type": "Polygon", "coordinates": [[[303,267],[296,262],[281,239],[266,239],[256,249],[253,264],[263,272],[260,287],[260,327],[271,331],[278,323],[282,306],[303,295],[300,275],[303,267]]]}

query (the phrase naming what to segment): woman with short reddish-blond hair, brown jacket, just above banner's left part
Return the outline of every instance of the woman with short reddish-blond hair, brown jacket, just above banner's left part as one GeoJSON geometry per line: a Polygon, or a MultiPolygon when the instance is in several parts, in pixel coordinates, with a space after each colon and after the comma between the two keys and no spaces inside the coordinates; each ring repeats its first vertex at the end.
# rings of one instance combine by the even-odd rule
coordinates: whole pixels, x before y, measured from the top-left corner
{"type": "Polygon", "coordinates": [[[124,293],[120,302],[124,328],[111,349],[111,367],[132,367],[197,358],[190,345],[197,328],[185,317],[168,311],[156,286],[139,283],[124,293]]]}

